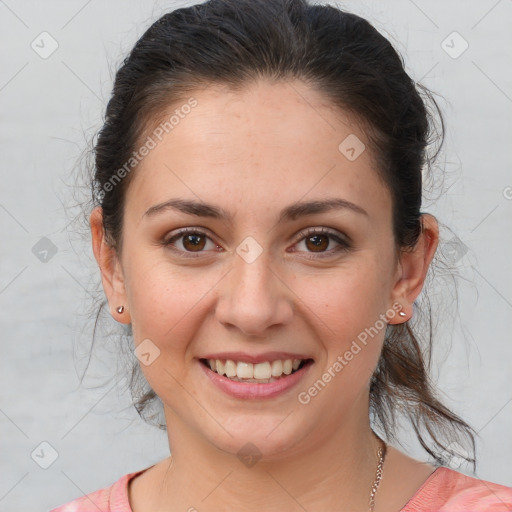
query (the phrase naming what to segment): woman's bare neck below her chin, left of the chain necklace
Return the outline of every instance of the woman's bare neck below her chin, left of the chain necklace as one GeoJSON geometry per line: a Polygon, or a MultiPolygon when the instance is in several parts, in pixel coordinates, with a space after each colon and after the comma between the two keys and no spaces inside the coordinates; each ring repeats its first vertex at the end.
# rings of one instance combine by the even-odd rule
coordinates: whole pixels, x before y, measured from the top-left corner
{"type": "Polygon", "coordinates": [[[344,510],[368,510],[380,442],[367,415],[364,424],[352,421],[307,436],[287,453],[254,465],[192,433],[170,411],[166,417],[172,457],[159,484],[161,505],[172,504],[173,510],[315,512],[338,510],[343,504],[344,510]]]}

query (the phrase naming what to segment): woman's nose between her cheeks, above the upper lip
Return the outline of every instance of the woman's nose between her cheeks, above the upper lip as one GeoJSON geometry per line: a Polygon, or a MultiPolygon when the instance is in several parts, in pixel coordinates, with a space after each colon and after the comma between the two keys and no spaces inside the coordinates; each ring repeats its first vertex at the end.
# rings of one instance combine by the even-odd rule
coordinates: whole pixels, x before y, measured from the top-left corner
{"type": "Polygon", "coordinates": [[[268,336],[271,327],[291,322],[294,294],[285,276],[271,268],[265,251],[248,263],[234,255],[234,268],[222,280],[216,318],[246,336],[268,336]]]}

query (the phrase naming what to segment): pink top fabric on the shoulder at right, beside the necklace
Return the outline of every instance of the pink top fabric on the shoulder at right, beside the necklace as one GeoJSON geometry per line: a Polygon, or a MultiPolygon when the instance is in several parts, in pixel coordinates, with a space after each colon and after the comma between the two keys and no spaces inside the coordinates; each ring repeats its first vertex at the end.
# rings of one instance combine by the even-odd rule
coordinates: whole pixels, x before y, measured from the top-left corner
{"type": "Polygon", "coordinates": [[[512,487],[438,467],[401,512],[506,512],[512,510],[512,487]]]}

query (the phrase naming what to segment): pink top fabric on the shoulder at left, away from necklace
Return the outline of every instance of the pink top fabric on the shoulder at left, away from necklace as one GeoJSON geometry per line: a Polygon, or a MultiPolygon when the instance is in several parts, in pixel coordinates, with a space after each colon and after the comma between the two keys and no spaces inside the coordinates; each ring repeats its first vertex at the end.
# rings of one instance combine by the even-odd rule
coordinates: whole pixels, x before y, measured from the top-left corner
{"type": "Polygon", "coordinates": [[[112,485],[84,494],[50,512],[131,512],[128,483],[142,471],[128,473],[112,485]]]}

